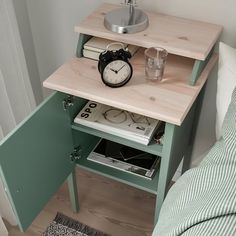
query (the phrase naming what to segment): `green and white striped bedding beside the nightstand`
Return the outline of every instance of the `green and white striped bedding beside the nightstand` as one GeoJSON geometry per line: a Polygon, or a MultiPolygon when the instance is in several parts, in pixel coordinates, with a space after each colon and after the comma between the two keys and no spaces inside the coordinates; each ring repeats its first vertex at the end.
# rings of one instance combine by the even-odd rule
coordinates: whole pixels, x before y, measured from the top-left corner
{"type": "Polygon", "coordinates": [[[236,236],[236,88],[222,138],[173,185],[153,236],[236,236]]]}

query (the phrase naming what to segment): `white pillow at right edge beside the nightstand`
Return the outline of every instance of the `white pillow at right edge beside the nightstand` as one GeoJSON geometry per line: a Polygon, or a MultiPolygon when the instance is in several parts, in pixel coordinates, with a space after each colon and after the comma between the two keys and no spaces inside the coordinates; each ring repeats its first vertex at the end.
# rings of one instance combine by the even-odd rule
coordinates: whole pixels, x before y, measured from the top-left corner
{"type": "Polygon", "coordinates": [[[236,86],[236,49],[220,42],[216,94],[216,138],[222,136],[222,124],[233,89],[236,86]]]}

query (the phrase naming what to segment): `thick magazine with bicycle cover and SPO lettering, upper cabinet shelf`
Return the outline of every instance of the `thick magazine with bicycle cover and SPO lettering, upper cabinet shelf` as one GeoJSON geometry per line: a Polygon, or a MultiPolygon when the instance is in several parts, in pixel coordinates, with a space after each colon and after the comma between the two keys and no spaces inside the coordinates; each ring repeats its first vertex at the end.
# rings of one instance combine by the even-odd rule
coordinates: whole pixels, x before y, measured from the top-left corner
{"type": "Polygon", "coordinates": [[[148,145],[160,121],[98,102],[89,101],[75,123],[148,145]]]}

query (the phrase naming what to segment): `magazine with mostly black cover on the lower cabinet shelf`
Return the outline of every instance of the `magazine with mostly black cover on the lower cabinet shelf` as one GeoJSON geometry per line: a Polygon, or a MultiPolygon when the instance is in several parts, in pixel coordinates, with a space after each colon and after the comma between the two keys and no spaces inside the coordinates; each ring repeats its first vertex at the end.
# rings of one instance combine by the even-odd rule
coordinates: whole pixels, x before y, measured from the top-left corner
{"type": "Polygon", "coordinates": [[[90,153],[87,159],[148,179],[152,179],[154,177],[160,163],[160,158],[158,156],[105,139],[100,141],[95,150],[90,153]],[[129,153],[133,152],[133,158],[124,160],[122,154],[123,149],[129,153]]]}

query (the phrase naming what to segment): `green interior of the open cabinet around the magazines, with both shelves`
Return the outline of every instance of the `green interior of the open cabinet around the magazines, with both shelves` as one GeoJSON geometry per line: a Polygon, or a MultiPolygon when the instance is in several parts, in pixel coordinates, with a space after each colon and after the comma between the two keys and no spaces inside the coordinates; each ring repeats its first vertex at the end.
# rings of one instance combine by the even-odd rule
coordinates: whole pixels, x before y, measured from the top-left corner
{"type": "Polygon", "coordinates": [[[119,182],[155,194],[157,192],[156,186],[159,179],[158,170],[156,171],[156,174],[153,179],[146,179],[144,177],[140,177],[132,173],[117,170],[113,167],[89,161],[87,160],[87,157],[94,150],[94,148],[100,142],[101,139],[107,139],[113,142],[117,142],[119,144],[130,146],[132,148],[139,149],[157,156],[161,156],[162,145],[156,143],[143,145],[125,138],[120,138],[110,133],[102,132],[84,125],[74,123],[73,120],[75,116],[79,113],[79,111],[86,104],[86,102],[86,99],[76,97],[74,101],[74,106],[72,107],[69,113],[71,119],[71,130],[74,140],[74,147],[79,146],[81,149],[81,156],[79,159],[76,160],[76,164],[83,169],[101,174],[119,182]]]}

